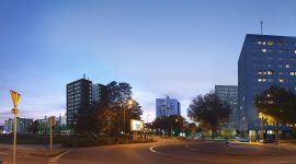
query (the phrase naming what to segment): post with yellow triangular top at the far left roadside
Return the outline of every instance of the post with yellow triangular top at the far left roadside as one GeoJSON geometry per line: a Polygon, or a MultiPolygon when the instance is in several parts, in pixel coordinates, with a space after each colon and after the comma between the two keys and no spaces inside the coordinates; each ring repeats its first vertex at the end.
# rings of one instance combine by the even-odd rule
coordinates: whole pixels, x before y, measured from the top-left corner
{"type": "Polygon", "coordinates": [[[14,125],[13,125],[13,164],[15,164],[16,156],[16,124],[18,124],[18,104],[21,98],[21,94],[10,90],[11,99],[13,103],[12,114],[14,115],[14,125]]]}

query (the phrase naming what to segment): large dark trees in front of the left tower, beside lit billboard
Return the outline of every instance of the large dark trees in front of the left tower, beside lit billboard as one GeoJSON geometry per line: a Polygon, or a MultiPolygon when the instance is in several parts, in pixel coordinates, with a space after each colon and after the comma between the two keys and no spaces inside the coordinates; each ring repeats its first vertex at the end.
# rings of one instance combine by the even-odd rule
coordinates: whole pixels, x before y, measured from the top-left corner
{"type": "Polygon", "coordinates": [[[109,83],[107,104],[92,105],[89,109],[83,109],[78,116],[75,131],[84,134],[96,134],[104,132],[110,136],[118,136],[124,129],[129,131],[130,119],[140,119],[143,115],[141,106],[132,98],[132,86],[128,83],[109,83]],[[133,104],[128,104],[133,101],[133,104]]]}

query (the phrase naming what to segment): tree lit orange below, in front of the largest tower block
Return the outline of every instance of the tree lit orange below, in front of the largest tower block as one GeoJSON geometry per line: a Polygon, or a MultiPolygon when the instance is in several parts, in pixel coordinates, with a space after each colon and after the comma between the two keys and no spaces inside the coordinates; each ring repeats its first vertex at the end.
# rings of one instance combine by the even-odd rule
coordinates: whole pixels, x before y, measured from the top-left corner
{"type": "Polygon", "coordinates": [[[276,124],[275,137],[278,139],[278,125],[296,124],[296,95],[284,87],[271,85],[255,95],[254,106],[258,114],[273,118],[276,124]]]}

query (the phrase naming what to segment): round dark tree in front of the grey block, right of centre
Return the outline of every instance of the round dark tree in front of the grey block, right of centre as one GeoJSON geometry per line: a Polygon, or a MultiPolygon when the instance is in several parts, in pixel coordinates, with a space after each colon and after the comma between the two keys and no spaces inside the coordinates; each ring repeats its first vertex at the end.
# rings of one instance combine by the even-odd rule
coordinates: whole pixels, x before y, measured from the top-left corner
{"type": "Polygon", "coordinates": [[[210,129],[214,138],[218,126],[228,121],[230,113],[230,106],[226,102],[214,93],[207,93],[193,98],[187,116],[191,120],[200,122],[203,128],[210,129]]]}

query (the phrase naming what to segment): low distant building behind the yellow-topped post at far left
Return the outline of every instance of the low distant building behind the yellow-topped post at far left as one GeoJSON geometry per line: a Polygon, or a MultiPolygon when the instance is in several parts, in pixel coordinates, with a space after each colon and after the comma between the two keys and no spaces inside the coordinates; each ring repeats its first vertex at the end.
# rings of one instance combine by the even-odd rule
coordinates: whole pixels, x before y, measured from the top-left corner
{"type": "MultiPolygon", "coordinates": [[[[27,128],[32,125],[33,119],[18,117],[16,122],[18,133],[29,133],[30,131],[27,131],[27,128]]],[[[7,133],[13,132],[13,124],[14,120],[12,118],[4,120],[4,131],[7,133]]]]}

